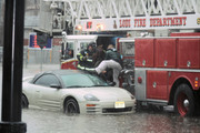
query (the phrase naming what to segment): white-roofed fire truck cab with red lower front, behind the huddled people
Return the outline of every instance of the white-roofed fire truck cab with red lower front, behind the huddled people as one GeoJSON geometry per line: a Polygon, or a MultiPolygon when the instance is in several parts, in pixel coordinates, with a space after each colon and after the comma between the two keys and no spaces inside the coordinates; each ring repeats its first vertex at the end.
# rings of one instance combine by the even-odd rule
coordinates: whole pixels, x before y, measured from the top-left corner
{"type": "Polygon", "coordinates": [[[106,50],[108,44],[117,43],[119,37],[112,34],[82,34],[82,35],[67,35],[62,32],[62,45],[61,45],[61,69],[77,69],[78,59],[77,54],[81,50],[87,49],[90,42],[96,42],[97,45],[102,44],[106,50]]]}

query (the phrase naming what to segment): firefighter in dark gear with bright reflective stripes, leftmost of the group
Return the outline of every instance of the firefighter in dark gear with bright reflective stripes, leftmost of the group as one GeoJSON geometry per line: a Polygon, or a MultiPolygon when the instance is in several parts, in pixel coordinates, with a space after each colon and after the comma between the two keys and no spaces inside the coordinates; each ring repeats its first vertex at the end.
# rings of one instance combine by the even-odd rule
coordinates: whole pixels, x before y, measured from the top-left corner
{"type": "Polygon", "coordinates": [[[90,42],[86,50],[82,50],[77,54],[77,59],[79,60],[78,69],[80,70],[93,70],[92,64],[92,55],[96,50],[96,43],[90,42]]]}

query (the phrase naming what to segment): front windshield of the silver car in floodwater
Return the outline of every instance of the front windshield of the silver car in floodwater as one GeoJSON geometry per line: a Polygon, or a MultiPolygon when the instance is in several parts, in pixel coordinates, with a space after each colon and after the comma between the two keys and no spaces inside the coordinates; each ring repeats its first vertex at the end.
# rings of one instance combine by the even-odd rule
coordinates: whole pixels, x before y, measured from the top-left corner
{"type": "Polygon", "coordinates": [[[91,74],[67,74],[61,75],[66,88],[91,88],[91,86],[108,86],[107,82],[91,74]]]}

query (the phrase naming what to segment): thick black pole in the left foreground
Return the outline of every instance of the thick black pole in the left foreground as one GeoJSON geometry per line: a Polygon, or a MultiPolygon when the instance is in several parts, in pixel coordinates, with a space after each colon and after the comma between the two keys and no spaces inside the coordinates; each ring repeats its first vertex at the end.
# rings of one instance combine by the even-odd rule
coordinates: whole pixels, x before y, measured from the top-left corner
{"type": "Polygon", "coordinates": [[[26,133],[21,122],[24,0],[6,0],[0,133],[26,133]]]}

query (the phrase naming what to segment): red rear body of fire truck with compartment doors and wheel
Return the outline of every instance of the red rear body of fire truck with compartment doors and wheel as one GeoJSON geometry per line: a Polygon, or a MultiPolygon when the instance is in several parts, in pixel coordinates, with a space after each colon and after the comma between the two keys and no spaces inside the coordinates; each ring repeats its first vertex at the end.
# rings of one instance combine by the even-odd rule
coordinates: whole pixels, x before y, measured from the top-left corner
{"type": "Polygon", "coordinates": [[[134,39],[137,108],[174,105],[181,115],[200,109],[200,38],[134,39]]]}

